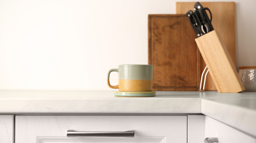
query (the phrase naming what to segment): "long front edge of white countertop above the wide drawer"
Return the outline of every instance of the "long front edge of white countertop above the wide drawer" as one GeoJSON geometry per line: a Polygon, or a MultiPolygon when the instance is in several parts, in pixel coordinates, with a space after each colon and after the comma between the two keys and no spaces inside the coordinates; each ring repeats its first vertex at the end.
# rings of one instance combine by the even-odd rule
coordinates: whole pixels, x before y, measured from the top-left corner
{"type": "Polygon", "coordinates": [[[2,98],[0,113],[200,114],[201,98],[2,98]]]}

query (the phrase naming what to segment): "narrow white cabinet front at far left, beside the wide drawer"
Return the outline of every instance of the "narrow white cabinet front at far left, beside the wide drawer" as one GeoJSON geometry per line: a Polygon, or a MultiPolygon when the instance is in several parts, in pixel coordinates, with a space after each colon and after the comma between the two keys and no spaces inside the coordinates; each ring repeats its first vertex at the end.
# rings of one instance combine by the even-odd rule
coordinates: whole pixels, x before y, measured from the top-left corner
{"type": "Polygon", "coordinates": [[[0,115],[0,142],[14,143],[13,115],[0,115]]]}

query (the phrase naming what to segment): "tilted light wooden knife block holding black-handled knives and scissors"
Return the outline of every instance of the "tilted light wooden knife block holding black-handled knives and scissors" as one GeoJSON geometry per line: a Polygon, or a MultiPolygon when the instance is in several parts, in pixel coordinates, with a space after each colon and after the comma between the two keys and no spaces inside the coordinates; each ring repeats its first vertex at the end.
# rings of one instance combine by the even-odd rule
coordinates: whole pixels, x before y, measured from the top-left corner
{"type": "Polygon", "coordinates": [[[195,39],[218,92],[245,90],[220,34],[213,30],[195,39]]]}

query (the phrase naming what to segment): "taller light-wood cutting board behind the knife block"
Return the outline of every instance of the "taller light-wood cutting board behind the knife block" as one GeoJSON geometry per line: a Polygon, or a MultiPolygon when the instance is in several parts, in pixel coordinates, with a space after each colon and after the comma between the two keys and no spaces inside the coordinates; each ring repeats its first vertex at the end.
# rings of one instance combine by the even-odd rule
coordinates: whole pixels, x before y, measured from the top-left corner
{"type": "MultiPolygon", "coordinates": [[[[176,13],[186,14],[188,10],[194,11],[196,2],[176,2],[176,13]]],[[[212,13],[212,25],[216,31],[220,32],[227,51],[236,65],[236,36],[235,36],[235,2],[200,2],[203,7],[207,7],[212,13]]],[[[192,29],[192,27],[191,27],[192,29]]],[[[195,33],[195,32],[194,32],[195,33]]],[[[201,56],[201,71],[205,68],[205,62],[201,56]]],[[[210,72],[209,72],[210,73],[210,72]]],[[[207,74],[205,90],[217,90],[212,77],[207,74]]],[[[200,73],[202,74],[202,73],[200,73]]],[[[201,77],[200,77],[201,78],[201,77]]]]}

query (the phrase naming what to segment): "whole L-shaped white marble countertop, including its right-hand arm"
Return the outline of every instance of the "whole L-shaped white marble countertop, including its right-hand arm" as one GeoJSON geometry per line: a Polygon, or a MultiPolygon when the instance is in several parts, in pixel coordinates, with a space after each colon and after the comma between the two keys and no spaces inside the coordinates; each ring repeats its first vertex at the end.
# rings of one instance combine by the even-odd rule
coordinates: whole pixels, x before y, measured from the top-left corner
{"type": "Polygon", "coordinates": [[[115,97],[114,91],[0,90],[0,114],[201,114],[256,136],[256,92],[157,91],[115,97]]]}

